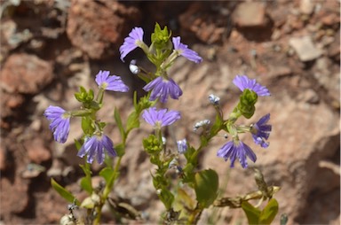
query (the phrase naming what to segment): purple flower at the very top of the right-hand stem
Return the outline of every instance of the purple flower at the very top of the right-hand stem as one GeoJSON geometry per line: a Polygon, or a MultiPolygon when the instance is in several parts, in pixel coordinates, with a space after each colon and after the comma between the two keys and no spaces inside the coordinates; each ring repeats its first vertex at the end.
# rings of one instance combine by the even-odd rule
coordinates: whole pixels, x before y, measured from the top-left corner
{"type": "Polygon", "coordinates": [[[270,96],[270,92],[265,86],[256,82],[256,79],[249,79],[246,75],[237,75],[234,78],[234,85],[242,91],[244,89],[250,89],[256,92],[258,96],[270,96]]]}

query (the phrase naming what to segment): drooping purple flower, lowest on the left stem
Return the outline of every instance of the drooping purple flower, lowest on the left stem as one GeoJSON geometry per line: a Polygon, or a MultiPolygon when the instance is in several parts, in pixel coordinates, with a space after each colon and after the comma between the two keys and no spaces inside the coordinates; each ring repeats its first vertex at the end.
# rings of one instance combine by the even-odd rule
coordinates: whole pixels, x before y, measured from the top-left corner
{"type": "Polygon", "coordinates": [[[107,151],[109,156],[115,157],[117,155],[114,150],[114,144],[109,137],[106,135],[94,135],[85,139],[85,142],[80,151],[78,151],[77,156],[83,158],[85,154],[88,154],[88,159],[86,161],[88,163],[92,163],[93,159],[97,155],[97,161],[99,164],[102,164],[105,157],[104,150],[107,151]]]}

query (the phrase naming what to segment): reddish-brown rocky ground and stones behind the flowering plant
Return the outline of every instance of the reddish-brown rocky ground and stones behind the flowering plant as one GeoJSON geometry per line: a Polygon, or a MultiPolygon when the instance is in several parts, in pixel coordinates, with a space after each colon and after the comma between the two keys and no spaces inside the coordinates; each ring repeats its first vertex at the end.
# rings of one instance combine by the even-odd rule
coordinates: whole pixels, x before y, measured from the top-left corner
{"type": "MultiPolygon", "coordinates": [[[[82,135],[73,120],[67,144],[56,144],[43,112],[48,105],[78,106],[73,94],[79,85],[95,88],[101,70],[121,75],[131,87],[144,83],[119,60],[118,48],[132,27],[143,27],[145,41],[155,22],[199,52],[195,65],[178,58],[170,74],[184,91],[167,107],[182,112],[170,134],[197,143],[195,121],[213,119],[208,102],[213,93],[228,113],[239,90],[232,80],[248,74],[266,85],[272,97],[261,97],[254,120],[271,112],[270,146],[260,149],[259,167],[270,185],[281,186],[275,197],[288,224],[340,223],[340,1],[210,1],[125,2],[90,0],[1,1],[1,224],[53,224],[68,213],[67,201],[52,190],[54,178],[82,199],[83,175],[75,156],[74,138],[82,135]]],[[[147,66],[140,50],[137,58],[147,66]]],[[[113,122],[118,107],[123,118],[131,112],[132,92],[107,94],[100,111],[110,121],[107,132],[119,141],[113,122]]],[[[242,121],[241,121],[242,122],[242,121]]],[[[247,121],[250,123],[251,121],[247,121]]],[[[142,122],[131,134],[123,158],[122,177],[113,194],[155,223],[163,207],[153,190],[141,139],[150,132],[142,122]]],[[[218,171],[227,181],[224,196],[256,190],[252,169],[235,167],[216,157],[226,139],[215,138],[202,154],[202,168],[218,171]]],[[[94,175],[100,167],[93,165],[94,175]]],[[[94,182],[99,179],[94,178],[94,182]]],[[[212,211],[203,213],[201,224],[212,211]]],[[[245,224],[242,210],[220,211],[218,224],[245,224]]],[[[107,214],[105,221],[115,223],[107,214]]],[[[129,221],[127,221],[129,222],[129,221]]],[[[131,221],[131,223],[134,223],[131,221]]]]}

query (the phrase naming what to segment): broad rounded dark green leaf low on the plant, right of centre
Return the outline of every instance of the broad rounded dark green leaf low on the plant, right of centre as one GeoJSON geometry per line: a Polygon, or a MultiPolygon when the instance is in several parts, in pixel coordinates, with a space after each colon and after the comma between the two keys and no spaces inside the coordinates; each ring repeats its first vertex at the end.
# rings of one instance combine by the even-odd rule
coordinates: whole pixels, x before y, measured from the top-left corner
{"type": "Polygon", "coordinates": [[[196,200],[208,208],[218,196],[218,174],[212,169],[202,170],[194,176],[196,200]]]}

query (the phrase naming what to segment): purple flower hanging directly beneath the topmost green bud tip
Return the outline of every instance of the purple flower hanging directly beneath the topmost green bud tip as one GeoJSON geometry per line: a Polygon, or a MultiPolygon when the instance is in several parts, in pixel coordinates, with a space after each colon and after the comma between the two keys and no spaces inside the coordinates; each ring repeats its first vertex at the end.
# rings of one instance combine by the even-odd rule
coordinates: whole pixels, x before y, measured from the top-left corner
{"type": "Polygon", "coordinates": [[[149,100],[154,101],[157,97],[160,97],[162,103],[167,102],[168,96],[178,99],[182,95],[182,90],[175,81],[171,78],[166,80],[161,76],[150,81],[143,89],[146,91],[153,89],[149,100]]]}

